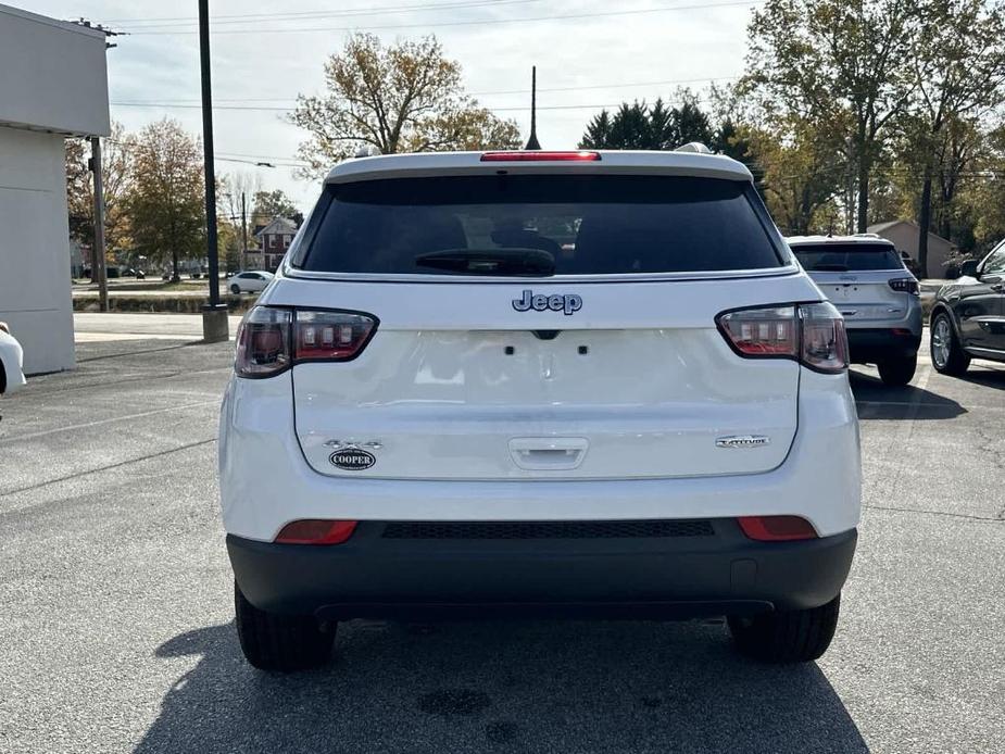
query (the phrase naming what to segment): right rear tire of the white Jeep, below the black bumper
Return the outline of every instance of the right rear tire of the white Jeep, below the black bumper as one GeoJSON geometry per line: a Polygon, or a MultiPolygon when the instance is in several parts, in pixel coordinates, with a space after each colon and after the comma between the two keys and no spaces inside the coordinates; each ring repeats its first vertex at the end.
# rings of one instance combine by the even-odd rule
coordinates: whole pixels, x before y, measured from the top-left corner
{"type": "Polygon", "coordinates": [[[830,646],[838,627],[841,594],[809,610],[779,611],[750,618],[730,617],[729,632],[741,654],[766,663],[808,663],[830,646]]]}

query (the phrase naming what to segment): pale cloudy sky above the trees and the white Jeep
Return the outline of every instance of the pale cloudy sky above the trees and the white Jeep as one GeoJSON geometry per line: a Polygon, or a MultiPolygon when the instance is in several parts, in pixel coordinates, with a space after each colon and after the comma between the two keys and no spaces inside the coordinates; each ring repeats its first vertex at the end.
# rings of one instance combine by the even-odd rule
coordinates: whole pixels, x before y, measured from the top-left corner
{"type": "MultiPolygon", "coordinates": [[[[129,36],[109,51],[112,117],[136,130],[164,115],[201,131],[197,1],[5,0],[129,36]]],[[[590,117],[623,100],[667,98],[736,77],[756,2],[736,0],[211,0],[217,172],[251,172],[307,209],[316,186],[291,167],[303,134],[284,121],[322,93],[323,63],[353,30],[385,41],[435,34],[467,90],[522,131],[538,66],[538,135],[575,147],[590,117]],[[246,160],[248,162],[238,162],[246,160]],[[256,161],[274,168],[255,167],[256,161]]]]}

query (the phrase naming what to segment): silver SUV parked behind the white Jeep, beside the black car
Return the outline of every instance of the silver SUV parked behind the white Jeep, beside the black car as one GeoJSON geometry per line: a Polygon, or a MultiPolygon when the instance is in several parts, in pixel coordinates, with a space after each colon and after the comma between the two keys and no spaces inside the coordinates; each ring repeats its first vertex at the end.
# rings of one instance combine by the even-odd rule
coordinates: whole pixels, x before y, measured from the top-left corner
{"type": "Polygon", "coordinates": [[[876,364],[887,385],[907,385],[921,344],[921,291],[896,247],[869,234],[787,240],[844,317],[851,361],[876,364]]]}

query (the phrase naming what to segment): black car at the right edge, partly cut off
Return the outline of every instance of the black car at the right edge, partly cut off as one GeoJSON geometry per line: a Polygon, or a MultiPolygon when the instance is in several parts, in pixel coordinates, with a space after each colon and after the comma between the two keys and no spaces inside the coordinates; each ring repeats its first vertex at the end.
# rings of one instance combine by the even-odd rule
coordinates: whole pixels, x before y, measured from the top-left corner
{"type": "Polygon", "coordinates": [[[960,277],[939,290],[930,348],[932,366],[947,375],[965,374],[972,357],[1005,362],[1005,241],[964,262],[960,277]]]}

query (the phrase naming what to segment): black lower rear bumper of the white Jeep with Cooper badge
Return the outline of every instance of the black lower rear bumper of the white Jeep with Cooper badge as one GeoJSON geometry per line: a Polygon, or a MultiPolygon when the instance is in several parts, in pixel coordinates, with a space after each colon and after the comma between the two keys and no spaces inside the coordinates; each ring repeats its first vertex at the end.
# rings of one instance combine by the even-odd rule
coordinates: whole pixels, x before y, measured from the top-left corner
{"type": "Polygon", "coordinates": [[[255,606],[327,619],[557,614],[701,617],[821,605],[840,591],[856,530],[755,542],[734,519],[714,533],[588,539],[389,539],[364,521],[338,545],[228,535],[255,606]]]}

